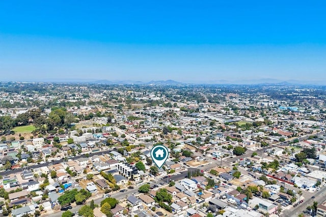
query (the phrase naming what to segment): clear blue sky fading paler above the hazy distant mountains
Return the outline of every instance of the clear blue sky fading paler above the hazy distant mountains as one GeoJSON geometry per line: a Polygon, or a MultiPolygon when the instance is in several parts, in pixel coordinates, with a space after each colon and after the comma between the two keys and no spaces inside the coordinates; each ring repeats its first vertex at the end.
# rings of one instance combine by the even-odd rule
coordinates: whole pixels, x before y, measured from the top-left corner
{"type": "Polygon", "coordinates": [[[326,80],[325,1],[1,1],[0,80],[326,80]]]}

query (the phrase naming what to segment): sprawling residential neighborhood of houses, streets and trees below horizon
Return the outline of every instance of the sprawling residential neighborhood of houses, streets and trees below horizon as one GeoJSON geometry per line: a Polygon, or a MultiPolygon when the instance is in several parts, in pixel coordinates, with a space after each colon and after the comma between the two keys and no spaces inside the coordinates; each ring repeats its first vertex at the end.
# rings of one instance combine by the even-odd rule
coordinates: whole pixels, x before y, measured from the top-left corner
{"type": "Polygon", "coordinates": [[[1,87],[1,215],[326,213],[324,89],[1,87]]]}

